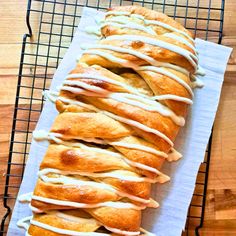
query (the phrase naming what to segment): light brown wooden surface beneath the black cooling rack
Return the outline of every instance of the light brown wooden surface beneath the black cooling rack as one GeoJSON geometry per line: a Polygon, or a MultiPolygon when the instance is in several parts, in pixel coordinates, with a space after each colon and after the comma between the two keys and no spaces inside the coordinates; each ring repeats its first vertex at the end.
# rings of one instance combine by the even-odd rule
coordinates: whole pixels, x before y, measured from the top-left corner
{"type": "MultiPolygon", "coordinates": [[[[191,1],[190,1],[191,2],[191,1]]],[[[201,1],[204,2],[204,1],[201,1]]],[[[206,1],[208,2],[208,1],[206,1]]],[[[215,1],[212,1],[215,2],[215,1]]],[[[222,44],[236,49],[236,1],[226,0],[222,44]]],[[[26,1],[0,4],[0,218],[26,1]]],[[[32,19],[37,28],[38,19],[32,19]]],[[[34,40],[34,38],[33,38],[34,40]]],[[[31,68],[29,68],[30,71],[31,68]]],[[[207,205],[201,235],[236,235],[236,52],[231,55],[215,121],[207,205]]],[[[15,171],[20,173],[15,167],[15,171]]],[[[17,181],[16,181],[17,183],[17,181]]]]}

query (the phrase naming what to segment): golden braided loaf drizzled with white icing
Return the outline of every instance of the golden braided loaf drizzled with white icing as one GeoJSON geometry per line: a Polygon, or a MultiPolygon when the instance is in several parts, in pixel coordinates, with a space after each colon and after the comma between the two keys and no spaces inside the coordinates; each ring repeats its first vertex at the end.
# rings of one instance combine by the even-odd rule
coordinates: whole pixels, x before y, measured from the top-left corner
{"type": "Polygon", "coordinates": [[[59,115],[32,195],[28,234],[148,235],[141,210],[158,207],[151,184],[192,104],[198,57],[191,33],[139,6],[110,9],[101,39],[84,53],[59,94],[59,115]]]}

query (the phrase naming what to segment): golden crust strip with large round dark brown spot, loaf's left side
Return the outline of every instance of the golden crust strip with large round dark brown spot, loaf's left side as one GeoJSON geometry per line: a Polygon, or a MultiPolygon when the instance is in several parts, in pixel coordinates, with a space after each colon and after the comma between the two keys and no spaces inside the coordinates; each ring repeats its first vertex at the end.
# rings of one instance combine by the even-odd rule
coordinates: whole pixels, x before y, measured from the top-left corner
{"type": "Polygon", "coordinates": [[[124,161],[106,153],[88,151],[81,148],[51,144],[40,165],[40,169],[52,168],[62,171],[102,172],[130,170],[124,161]]]}

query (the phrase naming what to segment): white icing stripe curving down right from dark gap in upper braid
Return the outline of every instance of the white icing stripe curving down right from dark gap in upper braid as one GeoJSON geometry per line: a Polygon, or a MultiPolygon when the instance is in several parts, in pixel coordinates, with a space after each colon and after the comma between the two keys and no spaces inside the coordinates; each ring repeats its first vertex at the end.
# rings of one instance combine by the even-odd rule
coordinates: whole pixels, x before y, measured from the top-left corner
{"type": "Polygon", "coordinates": [[[153,72],[157,72],[163,75],[168,76],[169,78],[175,80],[176,82],[178,82],[179,84],[181,84],[189,93],[190,95],[193,97],[193,91],[191,89],[191,87],[182,79],[180,79],[178,76],[176,76],[175,74],[173,74],[172,72],[164,69],[164,68],[158,68],[155,66],[140,66],[139,69],[140,71],[144,70],[144,71],[153,71],[153,72]]]}

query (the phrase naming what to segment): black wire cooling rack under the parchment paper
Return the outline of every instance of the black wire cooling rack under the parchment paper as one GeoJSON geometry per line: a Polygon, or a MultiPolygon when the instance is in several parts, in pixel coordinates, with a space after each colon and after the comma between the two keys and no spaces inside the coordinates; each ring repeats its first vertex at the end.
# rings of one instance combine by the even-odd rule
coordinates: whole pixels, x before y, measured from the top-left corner
{"type": "MultiPolygon", "coordinates": [[[[49,88],[53,74],[69,47],[82,8],[105,10],[115,5],[130,4],[164,12],[196,37],[221,43],[224,0],[28,0],[26,24],[29,32],[23,37],[3,199],[5,215],[0,235],[6,234],[23,177],[31,134],[43,107],[42,91],[49,88]]],[[[199,235],[203,225],[211,140],[212,137],[205,161],[199,169],[183,235],[199,235]]]]}

